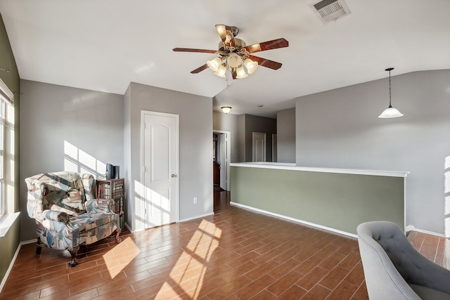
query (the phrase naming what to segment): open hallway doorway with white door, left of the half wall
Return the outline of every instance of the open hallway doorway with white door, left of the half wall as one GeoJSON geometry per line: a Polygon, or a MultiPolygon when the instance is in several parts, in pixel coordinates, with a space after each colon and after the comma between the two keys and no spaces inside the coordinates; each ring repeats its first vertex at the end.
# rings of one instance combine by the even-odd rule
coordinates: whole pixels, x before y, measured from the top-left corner
{"type": "Polygon", "coordinates": [[[231,132],[213,131],[214,187],[230,190],[231,132]]]}

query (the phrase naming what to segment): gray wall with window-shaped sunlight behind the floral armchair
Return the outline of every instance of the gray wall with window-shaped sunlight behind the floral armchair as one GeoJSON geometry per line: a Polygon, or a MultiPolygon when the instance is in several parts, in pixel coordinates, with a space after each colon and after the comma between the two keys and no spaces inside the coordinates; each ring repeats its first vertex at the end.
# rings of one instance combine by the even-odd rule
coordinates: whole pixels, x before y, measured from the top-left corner
{"type": "Polygon", "coordinates": [[[25,241],[36,238],[26,212],[25,178],[68,165],[105,174],[106,163],[119,165],[122,173],[124,102],[117,94],[36,81],[21,80],[20,86],[20,239],[25,241]]]}

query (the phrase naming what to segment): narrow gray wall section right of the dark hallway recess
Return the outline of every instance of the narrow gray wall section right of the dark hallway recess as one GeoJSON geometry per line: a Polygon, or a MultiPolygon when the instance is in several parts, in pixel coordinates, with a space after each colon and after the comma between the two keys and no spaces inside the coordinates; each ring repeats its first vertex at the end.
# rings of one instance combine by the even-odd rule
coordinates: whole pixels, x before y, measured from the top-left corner
{"type": "Polygon", "coordinates": [[[295,162],[295,108],[276,112],[278,162],[295,162]]]}

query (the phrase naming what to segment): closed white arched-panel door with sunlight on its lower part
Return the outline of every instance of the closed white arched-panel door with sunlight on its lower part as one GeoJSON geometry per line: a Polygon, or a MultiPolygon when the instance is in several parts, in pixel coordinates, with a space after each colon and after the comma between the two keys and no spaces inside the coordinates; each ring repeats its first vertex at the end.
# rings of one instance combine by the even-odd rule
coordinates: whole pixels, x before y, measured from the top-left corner
{"type": "Polygon", "coordinates": [[[150,228],[178,221],[179,116],[142,112],[143,220],[150,228]]]}

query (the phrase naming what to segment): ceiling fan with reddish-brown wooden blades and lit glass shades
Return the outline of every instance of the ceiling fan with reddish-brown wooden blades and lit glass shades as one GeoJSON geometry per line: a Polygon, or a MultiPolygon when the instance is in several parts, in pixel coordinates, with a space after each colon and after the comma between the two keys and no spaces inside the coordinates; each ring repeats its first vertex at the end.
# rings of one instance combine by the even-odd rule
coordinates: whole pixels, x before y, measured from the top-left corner
{"type": "Polygon", "coordinates": [[[285,39],[274,39],[246,46],[245,41],[236,38],[236,35],[238,35],[239,32],[238,27],[216,25],[216,30],[222,40],[219,42],[219,50],[193,48],[173,49],[173,51],[178,52],[214,53],[218,55],[213,60],[208,60],[205,65],[191,71],[192,74],[202,72],[207,67],[210,67],[214,74],[219,77],[226,77],[226,70],[229,70],[233,79],[241,79],[247,77],[248,74],[255,72],[258,65],[268,67],[272,70],[278,70],[281,67],[281,63],[266,58],[259,58],[253,56],[251,53],[288,47],[289,42],[285,39]],[[245,71],[244,67],[247,71],[245,71]]]}

